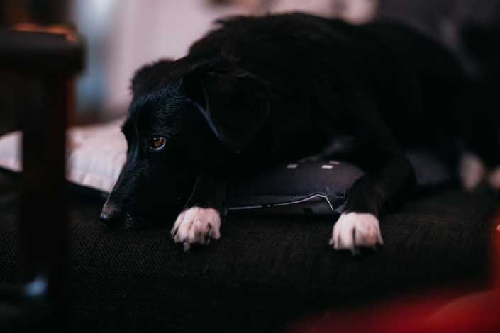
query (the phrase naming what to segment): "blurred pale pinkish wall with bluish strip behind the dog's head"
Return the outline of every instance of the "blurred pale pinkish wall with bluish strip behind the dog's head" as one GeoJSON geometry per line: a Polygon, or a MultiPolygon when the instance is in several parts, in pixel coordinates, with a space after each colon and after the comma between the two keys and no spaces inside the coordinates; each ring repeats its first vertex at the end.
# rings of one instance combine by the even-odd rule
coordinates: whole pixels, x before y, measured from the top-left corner
{"type": "Polygon", "coordinates": [[[91,0],[73,5],[74,22],[89,43],[89,67],[78,83],[77,105],[81,112],[97,106],[101,120],[126,111],[130,79],[139,67],[184,56],[216,18],[245,13],[203,0],[91,0]],[[96,22],[93,11],[99,2],[106,5],[96,22]]]}

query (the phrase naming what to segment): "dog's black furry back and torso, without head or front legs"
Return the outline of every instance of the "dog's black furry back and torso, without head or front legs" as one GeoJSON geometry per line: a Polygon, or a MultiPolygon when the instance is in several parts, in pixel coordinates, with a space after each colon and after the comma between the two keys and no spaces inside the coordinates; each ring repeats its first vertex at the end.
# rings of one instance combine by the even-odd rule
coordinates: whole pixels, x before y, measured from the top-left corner
{"type": "Polygon", "coordinates": [[[350,26],[303,14],[221,24],[191,55],[233,57],[266,81],[282,103],[270,108],[270,128],[294,140],[297,156],[318,152],[332,135],[363,135],[374,125],[365,123],[367,113],[377,112],[404,147],[456,162],[473,113],[467,80],[455,57],[430,38],[397,23],[350,26]]]}

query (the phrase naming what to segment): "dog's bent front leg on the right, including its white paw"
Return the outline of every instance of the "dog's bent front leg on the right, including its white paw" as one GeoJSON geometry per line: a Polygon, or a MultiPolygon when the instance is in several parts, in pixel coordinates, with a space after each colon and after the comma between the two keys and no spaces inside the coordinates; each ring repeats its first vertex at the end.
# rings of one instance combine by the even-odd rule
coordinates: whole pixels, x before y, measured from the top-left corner
{"type": "Polygon", "coordinates": [[[357,164],[366,174],[352,185],[344,213],[333,226],[330,245],[356,254],[359,247],[384,244],[379,227],[379,211],[394,199],[401,200],[415,186],[413,167],[404,154],[382,149],[364,151],[357,164]]]}

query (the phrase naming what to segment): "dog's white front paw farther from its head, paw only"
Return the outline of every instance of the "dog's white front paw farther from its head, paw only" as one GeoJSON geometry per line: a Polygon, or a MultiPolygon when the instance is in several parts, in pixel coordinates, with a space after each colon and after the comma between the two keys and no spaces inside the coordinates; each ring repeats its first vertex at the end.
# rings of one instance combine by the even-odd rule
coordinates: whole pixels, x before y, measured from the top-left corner
{"type": "Polygon", "coordinates": [[[333,225],[330,245],[333,249],[349,249],[352,254],[358,252],[358,247],[372,247],[377,243],[384,244],[380,235],[379,220],[367,213],[342,213],[333,225]]]}

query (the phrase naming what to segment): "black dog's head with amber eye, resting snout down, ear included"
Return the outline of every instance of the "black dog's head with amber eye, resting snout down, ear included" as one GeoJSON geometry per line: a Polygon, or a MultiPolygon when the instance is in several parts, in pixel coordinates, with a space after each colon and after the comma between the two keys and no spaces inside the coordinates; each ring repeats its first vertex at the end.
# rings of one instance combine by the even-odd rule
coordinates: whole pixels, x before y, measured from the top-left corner
{"type": "Polygon", "coordinates": [[[269,109],[265,83],[223,58],[143,67],[132,91],[122,129],[127,162],[101,213],[121,229],[152,225],[177,209],[199,172],[250,145],[269,109]]]}

